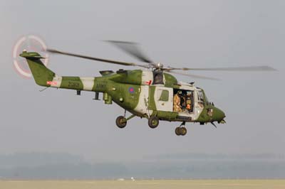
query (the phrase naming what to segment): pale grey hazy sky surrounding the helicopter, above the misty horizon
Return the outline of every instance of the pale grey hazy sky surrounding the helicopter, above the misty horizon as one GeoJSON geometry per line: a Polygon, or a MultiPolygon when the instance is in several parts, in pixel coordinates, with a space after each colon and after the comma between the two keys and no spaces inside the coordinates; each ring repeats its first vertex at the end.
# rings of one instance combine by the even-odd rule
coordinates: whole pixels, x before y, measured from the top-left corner
{"type": "MultiPolygon", "coordinates": [[[[162,153],[285,153],[285,1],[0,1],[0,153],[68,152],[94,161],[133,160],[162,153]],[[278,72],[193,72],[226,113],[227,124],[187,124],[134,118],[115,126],[118,105],[93,92],[48,89],[20,77],[12,49],[25,35],[49,47],[135,61],[102,40],[136,41],[152,59],[175,67],[269,65],[278,72]]],[[[117,65],[52,55],[58,75],[98,76],[117,65]]],[[[125,68],[127,69],[127,68],[125,68]]],[[[178,80],[193,81],[177,76],[178,80]]]]}

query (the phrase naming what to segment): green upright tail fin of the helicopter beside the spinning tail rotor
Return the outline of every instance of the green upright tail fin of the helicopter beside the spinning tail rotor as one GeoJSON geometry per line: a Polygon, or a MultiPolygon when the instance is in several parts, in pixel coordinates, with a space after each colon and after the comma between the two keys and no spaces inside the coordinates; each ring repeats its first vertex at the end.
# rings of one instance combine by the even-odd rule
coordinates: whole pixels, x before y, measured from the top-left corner
{"type": "Polygon", "coordinates": [[[43,57],[38,53],[28,53],[26,51],[23,51],[20,56],[26,58],[36,84],[50,87],[51,85],[49,85],[48,82],[52,81],[56,74],[43,65],[41,62],[41,58],[43,57]]]}

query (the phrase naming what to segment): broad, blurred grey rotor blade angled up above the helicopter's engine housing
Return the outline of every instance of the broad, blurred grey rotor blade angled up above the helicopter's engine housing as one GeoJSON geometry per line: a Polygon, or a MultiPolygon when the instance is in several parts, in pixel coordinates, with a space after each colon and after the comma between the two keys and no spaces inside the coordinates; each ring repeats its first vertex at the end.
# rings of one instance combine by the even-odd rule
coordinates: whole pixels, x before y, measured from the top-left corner
{"type": "Polygon", "coordinates": [[[134,58],[137,58],[138,60],[144,62],[144,63],[153,63],[150,58],[147,58],[147,56],[142,53],[142,50],[138,47],[138,43],[133,42],[127,42],[127,41],[107,41],[108,43],[111,43],[112,45],[115,45],[117,48],[120,48],[120,50],[125,51],[125,53],[128,53],[129,55],[132,55],[134,58]]]}

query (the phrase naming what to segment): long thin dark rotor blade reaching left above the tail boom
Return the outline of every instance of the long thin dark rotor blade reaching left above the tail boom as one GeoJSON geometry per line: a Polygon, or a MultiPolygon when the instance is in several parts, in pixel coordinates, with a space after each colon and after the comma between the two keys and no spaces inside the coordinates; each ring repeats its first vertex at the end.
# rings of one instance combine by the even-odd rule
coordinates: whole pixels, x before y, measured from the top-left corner
{"type": "Polygon", "coordinates": [[[46,49],[47,52],[49,53],[55,53],[55,54],[61,54],[61,55],[69,55],[69,56],[73,56],[73,57],[78,57],[78,58],[85,58],[88,60],[96,60],[96,61],[100,61],[103,63],[112,63],[112,64],[117,64],[117,65],[127,65],[127,66],[139,66],[142,68],[148,68],[147,65],[138,65],[136,63],[126,63],[126,62],[120,62],[117,60],[108,60],[108,59],[103,59],[103,58],[95,58],[95,57],[90,57],[90,56],[86,56],[86,55],[78,55],[78,54],[74,54],[74,53],[67,53],[67,52],[63,52],[63,51],[59,51],[59,50],[55,50],[55,49],[51,49],[48,48],[46,49]]]}

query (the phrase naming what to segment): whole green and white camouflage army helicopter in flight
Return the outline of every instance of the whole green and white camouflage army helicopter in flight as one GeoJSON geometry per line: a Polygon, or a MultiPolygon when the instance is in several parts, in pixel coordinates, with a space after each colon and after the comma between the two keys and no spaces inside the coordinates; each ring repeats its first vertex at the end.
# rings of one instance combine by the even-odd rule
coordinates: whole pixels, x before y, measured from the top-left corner
{"type": "Polygon", "coordinates": [[[212,70],[212,71],[273,71],[269,66],[250,66],[236,68],[172,68],[164,67],[162,63],[155,63],[147,58],[140,50],[137,43],[123,41],[108,41],[121,50],[138,58],[144,64],[127,63],[117,60],[95,58],[76,53],[67,53],[55,49],[46,49],[49,53],[69,55],[77,58],[96,60],[103,63],[113,63],[124,66],[135,66],[143,70],[112,70],[100,71],[100,77],[69,77],[59,76],[46,68],[41,62],[43,57],[36,52],[24,50],[20,56],[26,58],[31,73],[37,85],[76,90],[77,95],[81,91],[95,92],[95,100],[99,100],[99,93],[103,93],[105,104],[115,102],[125,109],[123,116],[115,120],[119,128],[124,128],[128,120],[133,117],[148,119],[150,128],[155,129],[160,121],[179,121],[180,126],[175,129],[177,136],[185,136],[186,122],[199,124],[224,124],[226,117],[221,109],[209,102],[204,90],[196,87],[194,82],[179,82],[171,75],[180,74],[208,80],[217,80],[212,77],[192,75],[176,70],[212,70]],[[126,117],[126,112],[130,117],[126,117]]]}

